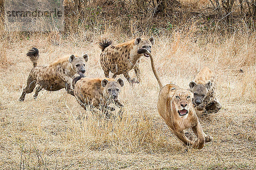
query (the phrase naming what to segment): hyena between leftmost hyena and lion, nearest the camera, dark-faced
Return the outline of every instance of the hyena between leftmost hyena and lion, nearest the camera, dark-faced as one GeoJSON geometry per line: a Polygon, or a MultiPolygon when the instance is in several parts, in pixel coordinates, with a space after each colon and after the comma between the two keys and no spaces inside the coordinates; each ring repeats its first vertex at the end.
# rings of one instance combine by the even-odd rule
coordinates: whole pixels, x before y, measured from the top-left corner
{"type": "Polygon", "coordinates": [[[109,107],[110,103],[113,102],[121,108],[123,105],[118,98],[116,98],[115,101],[111,99],[110,94],[108,94],[108,89],[111,88],[111,92],[116,89],[119,89],[120,91],[121,86],[123,86],[123,82],[120,85],[118,81],[121,79],[116,81],[115,79],[106,78],[108,83],[105,87],[102,87],[102,80],[104,79],[90,77],[79,79],[75,83],[74,95],[84,109],[86,109],[87,105],[93,105],[99,110],[104,111],[106,115],[109,116],[108,110],[114,110],[114,108],[109,107]]]}

